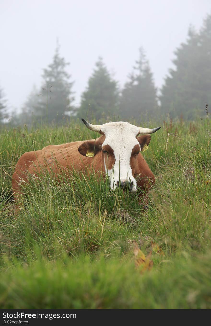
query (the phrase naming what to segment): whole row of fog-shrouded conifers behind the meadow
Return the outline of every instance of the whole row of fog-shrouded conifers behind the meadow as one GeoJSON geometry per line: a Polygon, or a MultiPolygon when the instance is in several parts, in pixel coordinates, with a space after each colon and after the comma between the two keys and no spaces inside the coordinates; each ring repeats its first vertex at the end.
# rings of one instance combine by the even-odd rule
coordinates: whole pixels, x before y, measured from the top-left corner
{"type": "MultiPolygon", "coordinates": [[[[65,117],[85,119],[113,117],[121,120],[171,116],[195,119],[204,116],[204,102],[211,106],[211,14],[197,32],[189,28],[187,40],[174,52],[159,95],[143,48],[122,89],[99,57],[79,107],[74,106],[74,81],[66,71],[68,62],[57,44],[52,63],[43,70],[40,89],[33,86],[22,112],[12,123],[31,125],[34,121],[61,123],[65,117]]],[[[5,122],[7,102],[0,88],[0,121],[5,122]]]]}

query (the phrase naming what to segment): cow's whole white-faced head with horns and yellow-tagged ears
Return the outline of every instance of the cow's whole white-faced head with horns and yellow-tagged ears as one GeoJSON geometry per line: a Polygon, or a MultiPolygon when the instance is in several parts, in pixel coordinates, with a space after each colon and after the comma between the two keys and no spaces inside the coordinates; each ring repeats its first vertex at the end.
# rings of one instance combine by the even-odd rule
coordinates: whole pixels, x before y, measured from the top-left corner
{"type": "Polygon", "coordinates": [[[95,141],[86,141],[79,146],[78,151],[84,156],[94,156],[102,151],[102,164],[110,178],[110,187],[128,188],[136,191],[134,178],[139,152],[148,145],[153,132],[161,127],[140,128],[128,122],[109,122],[101,126],[91,125],[82,119],[90,130],[97,131],[102,136],[95,141]],[[138,135],[141,135],[138,137],[138,135]]]}

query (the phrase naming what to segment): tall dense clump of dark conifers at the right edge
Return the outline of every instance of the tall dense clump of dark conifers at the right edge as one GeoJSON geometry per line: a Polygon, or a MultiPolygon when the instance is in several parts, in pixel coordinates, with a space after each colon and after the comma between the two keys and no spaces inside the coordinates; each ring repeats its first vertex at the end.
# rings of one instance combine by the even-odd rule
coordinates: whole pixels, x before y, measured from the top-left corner
{"type": "Polygon", "coordinates": [[[211,103],[211,15],[197,33],[192,27],[188,39],[174,52],[175,69],[170,69],[161,90],[161,112],[194,119],[204,115],[211,103]]]}

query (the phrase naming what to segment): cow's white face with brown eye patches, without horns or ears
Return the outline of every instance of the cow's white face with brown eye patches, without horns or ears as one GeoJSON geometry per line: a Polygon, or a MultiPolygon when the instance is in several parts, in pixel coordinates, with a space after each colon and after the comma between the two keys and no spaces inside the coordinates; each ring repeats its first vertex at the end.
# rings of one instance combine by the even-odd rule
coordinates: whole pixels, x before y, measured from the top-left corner
{"type": "Polygon", "coordinates": [[[130,191],[136,191],[137,184],[132,174],[131,156],[138,155],[140,152],[140,145],[136,139],[139,128],[128,122],[110,122],[102,125],[101,131],[106,136],[102,150],[111,189],[125,184],[130,191]]]}

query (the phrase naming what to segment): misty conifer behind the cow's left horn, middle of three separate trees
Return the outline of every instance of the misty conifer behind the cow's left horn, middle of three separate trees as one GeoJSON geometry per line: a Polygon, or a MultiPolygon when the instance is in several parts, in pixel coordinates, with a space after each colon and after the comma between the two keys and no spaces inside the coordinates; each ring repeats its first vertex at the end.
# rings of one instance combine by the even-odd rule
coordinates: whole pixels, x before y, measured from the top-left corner
{"type": "Polygon", "coordinates": [[[89,78],[87,90],[82,94],[78,117],[96,118],[103,114],[113,116],[118,112],[119,91],[117,82],[112,79],[103,59],[99,57],[96,68],[89,78]]]}

